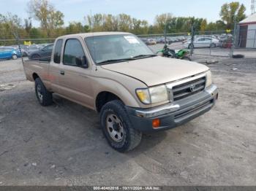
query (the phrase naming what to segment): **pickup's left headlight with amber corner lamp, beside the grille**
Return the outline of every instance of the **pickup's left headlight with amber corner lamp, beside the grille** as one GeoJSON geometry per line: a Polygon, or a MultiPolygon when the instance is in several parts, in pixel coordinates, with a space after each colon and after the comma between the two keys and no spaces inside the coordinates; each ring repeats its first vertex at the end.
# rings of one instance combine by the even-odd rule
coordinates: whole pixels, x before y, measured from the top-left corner
{"type": "Polygon", "coordinates": [[[136,94],[143,104],[156,104],[162,101],[168,101],[168,93],[165,85],[137,89],[136,94]]]}

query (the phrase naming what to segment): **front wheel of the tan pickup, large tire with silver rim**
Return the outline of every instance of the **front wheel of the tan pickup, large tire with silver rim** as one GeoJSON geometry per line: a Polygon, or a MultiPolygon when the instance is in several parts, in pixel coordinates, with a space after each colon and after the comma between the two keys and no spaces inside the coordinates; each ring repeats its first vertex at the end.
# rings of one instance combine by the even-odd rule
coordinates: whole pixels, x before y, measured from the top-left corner
{"type": "Polygon", "coordinates": [[[142,133],[132,128],[124,104],[119,100],[105,104],[100,112],[102,132],[110,147],[127,152],[140,144],[142,133]]]}

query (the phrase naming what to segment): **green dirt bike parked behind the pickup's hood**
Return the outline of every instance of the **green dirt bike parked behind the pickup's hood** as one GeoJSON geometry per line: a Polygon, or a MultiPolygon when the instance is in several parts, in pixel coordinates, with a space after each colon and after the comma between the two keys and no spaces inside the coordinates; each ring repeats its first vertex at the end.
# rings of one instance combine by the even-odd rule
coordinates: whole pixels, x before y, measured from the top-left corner
{"type": "Polygon", "coordinates": [[[165,45],[164,48],[162,50],[159,50],[157,53],[159,52],[162,53],[162,56],[167,58],[177,58],[181,60],[191,61],[191,58],[189,57],[189,50],[181,49],[176,52],[175,50],[172,50],[167,47],[167,45],[165,45]]]}

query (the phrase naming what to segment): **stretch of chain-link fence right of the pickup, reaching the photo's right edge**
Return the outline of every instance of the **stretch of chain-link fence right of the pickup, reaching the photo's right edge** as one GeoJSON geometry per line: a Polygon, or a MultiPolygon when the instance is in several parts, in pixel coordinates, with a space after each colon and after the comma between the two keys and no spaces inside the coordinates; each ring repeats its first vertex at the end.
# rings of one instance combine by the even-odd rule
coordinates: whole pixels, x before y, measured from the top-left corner
{"type": "Polygon", "coordinates": [[[187,49],[191,55],[213,57],[243,55],[246,58],[256,58],[256,25],[237,26],[233,31],[191,31],[186,34],[143,35],[140,38],[154,52],[161,50],[166,43],[170,49],[187,49]]]}

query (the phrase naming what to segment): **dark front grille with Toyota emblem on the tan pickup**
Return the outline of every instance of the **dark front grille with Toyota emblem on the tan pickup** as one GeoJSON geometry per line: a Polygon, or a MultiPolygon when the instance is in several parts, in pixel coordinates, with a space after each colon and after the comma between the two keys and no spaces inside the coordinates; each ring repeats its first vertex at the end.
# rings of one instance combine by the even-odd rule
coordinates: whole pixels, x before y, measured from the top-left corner
{"type": "Polygon", "coordinates": [[[206,77],[186,82],[181,85],[173,86],[173,101],[187,98],[189,95],[199,93],[206,86],[206,77]]]}

